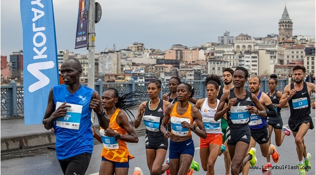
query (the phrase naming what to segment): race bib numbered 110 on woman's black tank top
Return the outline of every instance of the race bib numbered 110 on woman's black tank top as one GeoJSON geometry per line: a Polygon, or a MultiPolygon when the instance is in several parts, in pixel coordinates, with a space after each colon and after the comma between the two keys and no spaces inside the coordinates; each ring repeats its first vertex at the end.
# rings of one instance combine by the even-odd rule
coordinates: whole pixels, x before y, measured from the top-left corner
{"type": "Polygon", "coordinates": [[[234,124],[243,124],[249,121],[250,113],[247,106],[231,106],[230,120],[234,124]]]}

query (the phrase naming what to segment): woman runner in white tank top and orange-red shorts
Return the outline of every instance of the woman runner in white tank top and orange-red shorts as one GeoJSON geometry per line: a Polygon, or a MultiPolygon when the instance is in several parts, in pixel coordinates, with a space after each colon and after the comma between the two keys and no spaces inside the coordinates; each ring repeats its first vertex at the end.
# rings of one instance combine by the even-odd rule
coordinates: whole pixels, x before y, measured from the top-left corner
{"type": "MultiPolygon", "coordinates": [[[[200,158],[202,168],[207,172],[206,175],[214,175],[214,164],[223,142],[221,121],[214,120],[214,115],[219,104],[217,94],[220,84],[220,76],[211,75],[207,77],[205,86],[208,98],[198,100],[195,105],[201,112],[202,121],[207,133],[206,139],[200,138],[200,158]]],[[[194,124],[196,125],[196,123],[194,124]]]]}

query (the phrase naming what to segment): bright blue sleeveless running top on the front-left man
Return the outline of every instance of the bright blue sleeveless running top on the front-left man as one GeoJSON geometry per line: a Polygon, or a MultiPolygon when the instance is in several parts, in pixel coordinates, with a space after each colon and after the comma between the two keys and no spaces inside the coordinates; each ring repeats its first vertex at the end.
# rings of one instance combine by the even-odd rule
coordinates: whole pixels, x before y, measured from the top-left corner
{"type": "Polygon", "coordinates": [[[59,160],[83,153],[92,154],[94,139],[89,104],[93,92],[93,89],[83,85],[73,94],[70,94],[66,85],[53,87],[56,108],[64,102],[71,105],[66,116],[56,119],[53,124],[56,156],[59,160]]]}

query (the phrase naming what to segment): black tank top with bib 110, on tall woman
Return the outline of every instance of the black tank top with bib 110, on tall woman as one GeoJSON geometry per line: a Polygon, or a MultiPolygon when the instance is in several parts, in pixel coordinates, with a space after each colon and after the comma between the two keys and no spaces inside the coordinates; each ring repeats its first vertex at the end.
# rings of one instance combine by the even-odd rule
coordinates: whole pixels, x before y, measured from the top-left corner
{"type": "Polygon", "coordinates": [[[227,111],[227,121],[228,126],[232,129],[239,129],[248,126],[250,122],[250,113],[246,109],[247,105],[252,106],[252,96],[251,92],[246,90],[246,97],[244,99],[240,99],[236,97],[234,93],[234,89],[230,89],[229,99],[237,98],[236,103],[227,111]]]}

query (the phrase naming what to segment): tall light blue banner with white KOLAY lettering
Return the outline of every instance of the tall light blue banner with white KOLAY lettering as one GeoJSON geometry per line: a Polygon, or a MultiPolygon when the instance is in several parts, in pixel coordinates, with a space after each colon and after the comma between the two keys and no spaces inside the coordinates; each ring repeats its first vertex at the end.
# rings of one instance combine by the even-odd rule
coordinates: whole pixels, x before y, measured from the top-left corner
{"type": "Polygon", "coordinates": [[[20,0],[23,28],[24,123],[42,123],[48,95],[58,85],[53,0],[20,0]]]}

